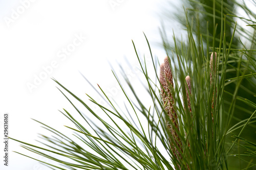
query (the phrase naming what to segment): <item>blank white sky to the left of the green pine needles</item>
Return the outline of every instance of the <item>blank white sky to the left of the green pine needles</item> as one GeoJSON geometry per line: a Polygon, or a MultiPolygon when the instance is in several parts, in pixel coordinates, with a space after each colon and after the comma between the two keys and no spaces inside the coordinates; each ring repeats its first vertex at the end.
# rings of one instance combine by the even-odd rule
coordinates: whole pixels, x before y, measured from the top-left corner
{"type": "MultiPolygon", "coordinates": [[[[120,96],[115,92],[116,81],[109,63],[117,72],[120,63],[133,81],[138,72],[127,66],[125,58],[133,66],[138,65],[132,39],[140,56],[150,57],[143,32],[151,43],[153,55],[163,60],[165,52],[160,46],[159,28],[164,20],[161,10],[165,2],[0,1],[0,136],[3,136],[4,113],[10,115],[9,136],[29,143],[37,143],[37,133],[47,132],[31,118],[58,129],[69,125],[58,110],[71,106],[51,77],[83,99],[88,99],[85,93],[96,96],[81,72],[96,88],[98,83],[110,93],[115,93],[114,98],[118,100],[120,96]],[[111,6],[111,2],[115,5],[111,6]],[[77,36],[86,39],[79,43],[77,36]],[[75,48],[72,48],[73,41],[77,44],[75,48]],[[65,48],[72,52],[65,55],[65,48]],[[55,68],[52,68],[52,62],[55,62],[55,68]],[[44,68],[48,70],[47,74],[44,68]],[[40,76],[45,79],[35,80],[40,76]],[[37,85],[31,86],[34,81],[37,85]],[[29,83],[31,89],[28,88],[29,83]]],[[[180,28],[171,25],[168,29],[180,28]]],[[[3,142],[0,147],[2,157],[3,142]]],[[[1,158],[0,169],[50,169],[12,152],[45,160],[24,150],[18,142],[10,140],[9,149],[9,166],[4,166],[1,158]]]]}

